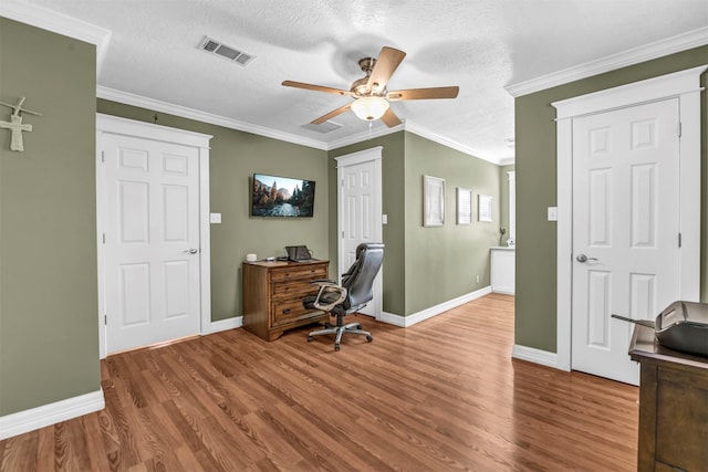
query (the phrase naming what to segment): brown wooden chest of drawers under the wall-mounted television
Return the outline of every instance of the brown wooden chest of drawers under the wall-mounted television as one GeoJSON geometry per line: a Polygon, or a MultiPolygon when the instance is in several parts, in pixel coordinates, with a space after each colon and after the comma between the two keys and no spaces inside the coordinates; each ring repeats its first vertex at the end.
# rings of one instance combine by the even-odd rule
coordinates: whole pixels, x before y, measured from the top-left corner
{"type": "Polygon", "coordinates": [[[317,293],[311,282],[326,280],[329,266],[329,261],[244,262],[243,328],[275,340],[287,329],[326,319],[305,310],[302,298],[317,293]]]}

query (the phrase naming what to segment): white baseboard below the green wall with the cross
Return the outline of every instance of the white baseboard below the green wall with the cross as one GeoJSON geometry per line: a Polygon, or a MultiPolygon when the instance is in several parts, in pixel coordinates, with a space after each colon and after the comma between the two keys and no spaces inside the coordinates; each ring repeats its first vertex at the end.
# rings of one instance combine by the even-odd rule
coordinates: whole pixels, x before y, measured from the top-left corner
{"type": "Polygon", "coordinates": [[[103,390],[0,417],[0,440],[103,410],[103,390]]]}

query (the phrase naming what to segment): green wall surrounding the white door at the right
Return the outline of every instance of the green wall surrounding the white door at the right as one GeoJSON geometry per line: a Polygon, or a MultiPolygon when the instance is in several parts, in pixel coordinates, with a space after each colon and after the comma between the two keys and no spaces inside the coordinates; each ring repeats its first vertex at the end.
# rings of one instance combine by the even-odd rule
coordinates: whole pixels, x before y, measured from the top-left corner
{"type": "MultiPolygon", "coordinates": [[[[517,145],[517,287],[516,343],[556,350],[556,228],[546,221],[546,208],[556,204],[555,109],[552,102],[708,63],[708,46],[647,61],[629,67],[518,97],[517,145]]],[[[706,86],[706,76],[701,77],[706,86]]],[[[701,94],[701,300],[708,301],[706,203],[708,149],[706,93],[701,94]]],[[[696,196],[698,200],[699,196],[696,196]]]]}

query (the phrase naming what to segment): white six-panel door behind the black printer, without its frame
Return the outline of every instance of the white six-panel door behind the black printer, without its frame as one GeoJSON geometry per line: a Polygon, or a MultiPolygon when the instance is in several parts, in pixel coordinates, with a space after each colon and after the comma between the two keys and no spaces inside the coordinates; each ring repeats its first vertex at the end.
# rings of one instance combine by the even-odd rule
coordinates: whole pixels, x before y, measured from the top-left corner
{"type": "Polygon", "coordinates": [[[638,385],[633,326],[679,297],[678,101],[573,119],[572,368],[638,385]]]}

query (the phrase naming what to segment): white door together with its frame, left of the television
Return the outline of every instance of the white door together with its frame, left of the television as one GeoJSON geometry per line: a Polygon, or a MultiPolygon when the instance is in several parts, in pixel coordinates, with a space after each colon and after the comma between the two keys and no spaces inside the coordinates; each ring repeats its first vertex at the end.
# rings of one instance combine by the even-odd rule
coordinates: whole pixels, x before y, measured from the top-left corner
{"type": "Polygon", "coordinates": [[[101,357],[208,328],[208,140],[97,116],[101,357]]]}

